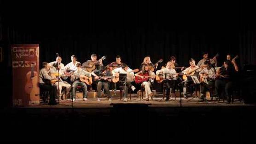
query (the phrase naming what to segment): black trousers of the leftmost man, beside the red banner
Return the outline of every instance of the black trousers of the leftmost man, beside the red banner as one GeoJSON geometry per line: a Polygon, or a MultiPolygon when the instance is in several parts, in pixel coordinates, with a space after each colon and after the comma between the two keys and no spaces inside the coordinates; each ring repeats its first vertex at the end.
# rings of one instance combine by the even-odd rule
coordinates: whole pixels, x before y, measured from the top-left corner
{"type": "Polygon", "coordinates": [[[57,98],[57,86],[55,85],[48,85],[48,84],[40,84],[40,90],[49,91],[50,92],[50,100],[49,104],[56,103],[55,98],[57,98]]]}

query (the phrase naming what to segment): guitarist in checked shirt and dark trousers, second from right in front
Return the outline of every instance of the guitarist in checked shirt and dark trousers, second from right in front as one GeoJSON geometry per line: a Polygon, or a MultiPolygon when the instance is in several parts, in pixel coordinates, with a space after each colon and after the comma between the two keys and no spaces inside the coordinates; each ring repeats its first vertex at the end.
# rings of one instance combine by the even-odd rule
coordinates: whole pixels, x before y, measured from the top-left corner
{"type": "Polygon", "coordinates": [[[215,79],[215,69],[210,67],[210,61],[207,60],[204,62],[205,68],[199,72],[200,80],[203,78],[206,81],[201,81],[200,83],[200,101],[204,101],[204,97],[206,94],[206,90],[208,87],[212,87],[214,85],[215,79]]]}

